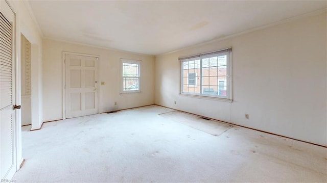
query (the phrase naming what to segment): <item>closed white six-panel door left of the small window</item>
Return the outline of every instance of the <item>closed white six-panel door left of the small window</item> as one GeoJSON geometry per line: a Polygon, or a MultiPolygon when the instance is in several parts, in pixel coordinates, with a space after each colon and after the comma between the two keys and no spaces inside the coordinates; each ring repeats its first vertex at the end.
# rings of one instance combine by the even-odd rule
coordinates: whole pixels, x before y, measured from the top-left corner
{"type": "Polygon", "coordinates": [[[98,58],[65,54],[66,118],[98,113],[98,58]]]}

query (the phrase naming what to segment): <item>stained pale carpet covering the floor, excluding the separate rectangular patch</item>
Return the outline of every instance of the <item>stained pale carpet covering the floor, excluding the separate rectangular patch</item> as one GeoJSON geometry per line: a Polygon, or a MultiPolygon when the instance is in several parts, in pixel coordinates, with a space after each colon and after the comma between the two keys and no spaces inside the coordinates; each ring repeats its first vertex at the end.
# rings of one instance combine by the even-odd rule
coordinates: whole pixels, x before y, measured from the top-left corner
{"type": "Polygon", "coordinates": [[[22,127],[16,182],[327,182],[327,149],[242,127],[213,136],[157,106],[22,127]]]}

